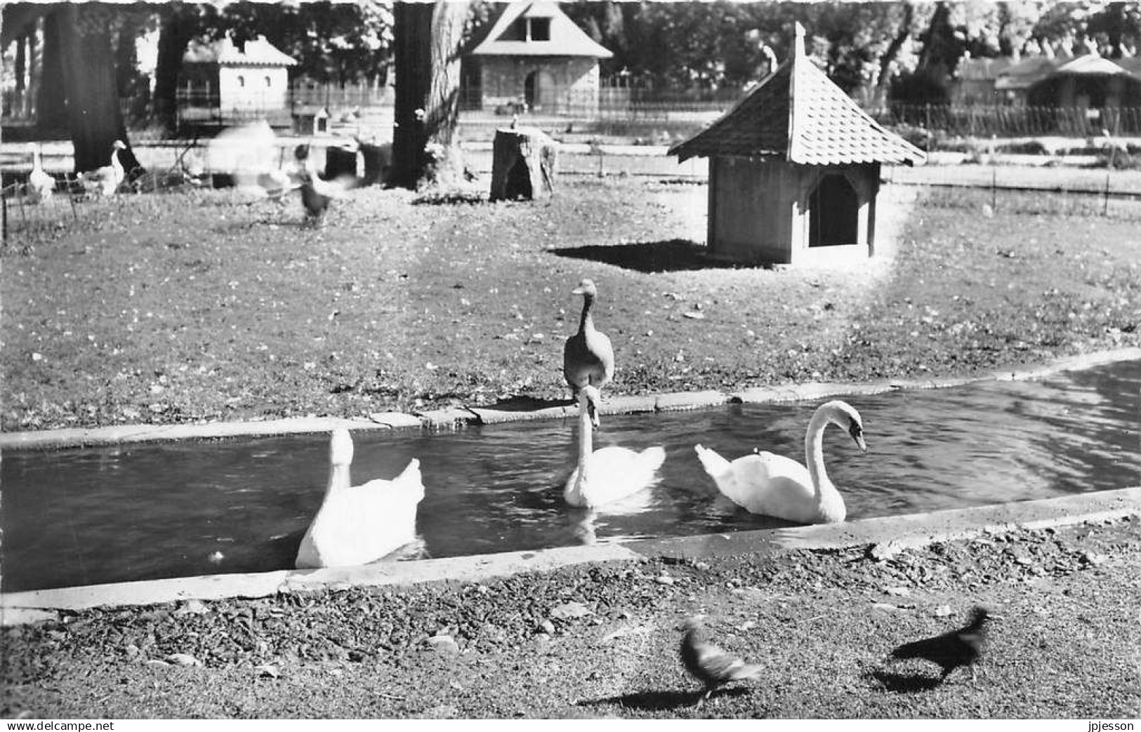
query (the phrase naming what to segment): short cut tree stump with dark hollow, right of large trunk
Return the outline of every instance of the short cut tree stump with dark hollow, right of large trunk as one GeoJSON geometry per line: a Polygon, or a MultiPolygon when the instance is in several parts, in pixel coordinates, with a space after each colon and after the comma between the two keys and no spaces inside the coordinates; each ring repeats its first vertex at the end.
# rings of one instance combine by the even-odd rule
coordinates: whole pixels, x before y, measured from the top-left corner
{"type": "Polygon", "coordinates": [[[492,201],[534,200],[555,193],[558,143],[536,128],[495,130],[492,201]]]}

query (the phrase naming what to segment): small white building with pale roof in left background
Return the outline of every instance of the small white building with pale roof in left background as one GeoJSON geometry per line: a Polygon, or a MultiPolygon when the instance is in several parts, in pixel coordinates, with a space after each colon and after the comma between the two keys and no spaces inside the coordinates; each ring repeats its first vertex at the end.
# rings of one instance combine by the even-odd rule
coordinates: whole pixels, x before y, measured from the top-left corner
{"type": "Polygon", "coordinates": [[[289,67],[297,62],[259,35],[241,49],[226,38],[192,43],[179,74],[179,120],[290,125],[289,67]]]}

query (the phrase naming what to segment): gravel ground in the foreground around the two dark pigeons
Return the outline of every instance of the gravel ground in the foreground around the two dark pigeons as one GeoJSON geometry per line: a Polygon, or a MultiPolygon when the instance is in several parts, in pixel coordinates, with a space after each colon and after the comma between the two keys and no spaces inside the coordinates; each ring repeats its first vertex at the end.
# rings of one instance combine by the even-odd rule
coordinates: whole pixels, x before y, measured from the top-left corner
{"type": "Polygon", "coordinates": [[[1141,713],[1141,520],[105,609],[6,628],[7,717],[1019,717],[1141,713]],[[974,682],[897,644],[992,624],[974,682]],[[679,623],[763,675],[695,709],[679,623]]]}

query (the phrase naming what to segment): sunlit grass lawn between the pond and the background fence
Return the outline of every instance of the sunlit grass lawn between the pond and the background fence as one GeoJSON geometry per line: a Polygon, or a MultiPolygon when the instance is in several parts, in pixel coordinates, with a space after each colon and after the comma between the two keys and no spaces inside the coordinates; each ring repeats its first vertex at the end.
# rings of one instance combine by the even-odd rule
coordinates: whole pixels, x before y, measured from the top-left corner
{"type": "Polygon", "coordinates": [[[87,203],[3,252],[2,426],[565,398],[582,277],[617,353],[610,393],[966,374],[1141,342],[1128,215],[1038,195],[987,218],[989,193],[937,193],[890,267],[706,268],[705,198],[632,177],[567,177],[534,203],[363,188],[321,228],[296,200],[224,190],[87,203]]]}

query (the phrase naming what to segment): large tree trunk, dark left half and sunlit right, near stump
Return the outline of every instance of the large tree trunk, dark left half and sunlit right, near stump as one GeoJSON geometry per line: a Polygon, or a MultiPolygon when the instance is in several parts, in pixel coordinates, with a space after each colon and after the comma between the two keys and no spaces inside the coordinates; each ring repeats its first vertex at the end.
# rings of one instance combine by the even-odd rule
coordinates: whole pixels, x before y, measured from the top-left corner
{"type": "Polygon", "coordinates": [[[463,173],[452,144],[460,97],[466,2],[396,2],[396,108],[391,185],[450,185],[463,173]]]}

